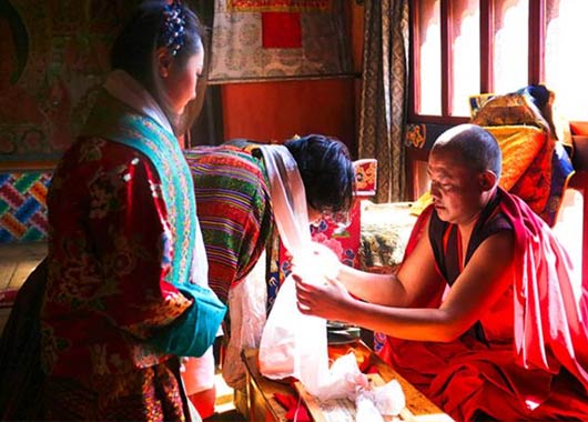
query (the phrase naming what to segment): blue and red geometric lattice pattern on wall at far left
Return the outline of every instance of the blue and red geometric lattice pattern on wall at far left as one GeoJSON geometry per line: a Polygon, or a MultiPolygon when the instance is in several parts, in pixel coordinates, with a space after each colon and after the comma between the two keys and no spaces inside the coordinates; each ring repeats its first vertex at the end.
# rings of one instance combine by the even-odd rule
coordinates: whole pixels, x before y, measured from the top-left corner
{"type": "Polygon", "coordinates": [[[49,172],[0,173],[0,243],[47,239],[49,172]]]}

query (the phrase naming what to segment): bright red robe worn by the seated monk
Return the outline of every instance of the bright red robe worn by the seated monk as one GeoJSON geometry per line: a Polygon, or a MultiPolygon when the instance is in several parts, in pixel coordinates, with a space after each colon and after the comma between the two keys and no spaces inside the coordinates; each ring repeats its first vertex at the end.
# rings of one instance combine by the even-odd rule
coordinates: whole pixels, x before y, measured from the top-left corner
{"type": "MultiPolygon", "coordinates": [[[[388,338],[379,355],[459,421],[473,420],[478,412],[498,420],[584,420],[585,288],[579,298],[574,295],[576,272],[546,223],[517,197],[503,191],[503,198],[500,209],[516,234],[518,273],[517,282],[480,320],[490,333],[487,343],[468,334],[450,343],[388,338]]],[[[423,229],[432,212],[428,208],[418,219],[407,254],[427,234],[423,229]]],[[[432,307],[439,305],[436,299],[432,307]]]]}

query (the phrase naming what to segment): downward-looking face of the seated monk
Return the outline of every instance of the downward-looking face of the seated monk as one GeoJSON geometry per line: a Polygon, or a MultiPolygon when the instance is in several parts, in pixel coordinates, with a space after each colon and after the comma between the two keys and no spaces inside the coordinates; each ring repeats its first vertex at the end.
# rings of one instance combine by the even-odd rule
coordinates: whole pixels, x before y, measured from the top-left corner
{"type": "Polygon", "coordinates": [[[432,151],[427,173],[439,219],[459,225],[477,219],[484,208],[479,172],[464,165],[455,153],[440,149],[432,151]]]}

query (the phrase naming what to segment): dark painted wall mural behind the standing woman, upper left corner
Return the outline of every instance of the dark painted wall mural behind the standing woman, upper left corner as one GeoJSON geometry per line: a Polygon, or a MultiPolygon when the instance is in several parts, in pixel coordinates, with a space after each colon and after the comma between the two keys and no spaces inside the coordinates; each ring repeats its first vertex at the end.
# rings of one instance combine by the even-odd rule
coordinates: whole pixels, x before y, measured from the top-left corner
{"type": "Polygon", "coordinates": [[[72,142],[135,3],[0,1],[0,167],[54,161],[72,142]]]}

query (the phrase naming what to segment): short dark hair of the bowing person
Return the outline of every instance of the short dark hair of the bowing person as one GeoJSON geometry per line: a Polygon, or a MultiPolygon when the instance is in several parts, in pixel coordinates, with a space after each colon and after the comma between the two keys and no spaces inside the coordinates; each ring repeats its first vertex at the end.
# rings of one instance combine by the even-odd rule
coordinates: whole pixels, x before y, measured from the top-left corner
{"type": "Polygon", "coordinates": [[[308,204],[321,212],[347,212],[355,190],[347,147],[321,134],[290,139],[284,145],[296,160],[308,204]]]}

